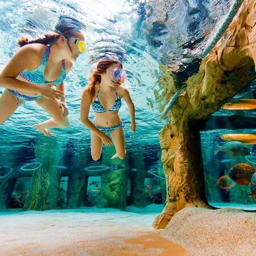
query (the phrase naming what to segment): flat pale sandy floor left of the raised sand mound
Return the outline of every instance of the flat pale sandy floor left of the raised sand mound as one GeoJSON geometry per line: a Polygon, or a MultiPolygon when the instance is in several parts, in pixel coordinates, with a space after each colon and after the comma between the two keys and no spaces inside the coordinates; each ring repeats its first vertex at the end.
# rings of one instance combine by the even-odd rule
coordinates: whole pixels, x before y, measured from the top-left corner
{"type": "Polygon", "coordinates": [[[79,208],[0,213],[0,255],[187,255],[152,228],[160,212],[79,208]]]}

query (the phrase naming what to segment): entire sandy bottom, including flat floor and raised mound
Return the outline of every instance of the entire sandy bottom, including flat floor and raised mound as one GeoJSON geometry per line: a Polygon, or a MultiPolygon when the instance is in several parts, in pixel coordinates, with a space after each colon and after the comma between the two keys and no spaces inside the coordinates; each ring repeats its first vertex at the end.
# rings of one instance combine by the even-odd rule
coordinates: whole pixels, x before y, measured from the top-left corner
{"type": "Polygon", "coordinates": [[[164,230],[163,207],[0,213],[0,255],[256,256],[256,213],[180,210],[164,230]]]}

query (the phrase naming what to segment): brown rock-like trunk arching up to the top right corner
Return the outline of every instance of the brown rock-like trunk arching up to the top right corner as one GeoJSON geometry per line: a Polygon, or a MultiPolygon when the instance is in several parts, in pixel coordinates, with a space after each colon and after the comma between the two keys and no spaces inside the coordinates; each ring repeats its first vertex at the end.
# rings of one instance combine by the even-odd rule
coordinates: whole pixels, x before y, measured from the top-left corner
{"type": "Polygon", "coordinates": [[[200,134],[194,123],[209,117],[255,79],[255,8],[254,0],[243,2],[225,35],[203,60],[199,72],[185,82],[187,87],[168,113],[170,122],[160,131],[160,146],[171,189],[154,228],[165,228],[177,211],[189,205],[207,207],[200,134]]]}

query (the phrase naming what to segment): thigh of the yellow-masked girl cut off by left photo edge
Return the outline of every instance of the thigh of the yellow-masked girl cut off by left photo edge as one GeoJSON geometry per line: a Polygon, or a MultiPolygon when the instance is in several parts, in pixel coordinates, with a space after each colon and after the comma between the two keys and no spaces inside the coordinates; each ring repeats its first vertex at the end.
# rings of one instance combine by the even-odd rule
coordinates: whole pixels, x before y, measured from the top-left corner
{"type": "Polygon", "coordinates": [[[23,100],[17,98],[7,89],[0,96],[0,125],[5,122],[11,114],[22,104],[23,100]],[[18,101],[18,104],[17,104],[18,101]]]}

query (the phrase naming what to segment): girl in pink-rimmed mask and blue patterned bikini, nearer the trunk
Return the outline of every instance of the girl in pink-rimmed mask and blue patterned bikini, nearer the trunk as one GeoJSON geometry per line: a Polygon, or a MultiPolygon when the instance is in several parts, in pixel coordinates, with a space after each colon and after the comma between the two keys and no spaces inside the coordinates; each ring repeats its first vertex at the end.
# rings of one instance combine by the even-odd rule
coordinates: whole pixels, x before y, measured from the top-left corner
{"type": "Polygon", "coordinates": [[[91,154],[93,160],[101,156],[102,146],[111,146],[113,139],[116,154],[113,158],[124,159],[126,155],[123,123],[118,115],[123,99],[130,112],[130,130],[135,133],[135,109],[129,91],[121,84],[126,79],[122,64],[116,59],[100,60],[89,77],[89,86],[82,92],[81,122],[91,130],[91,154]],[[93,121],[88,118],[90,106],[95,113],[93,121]]]}

